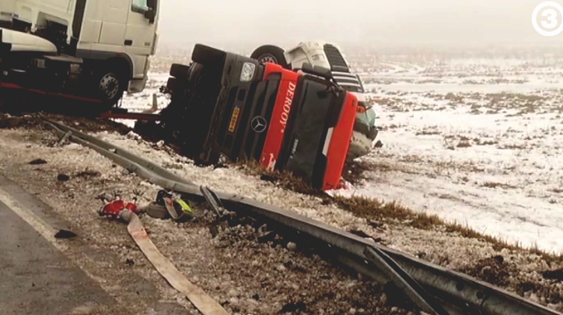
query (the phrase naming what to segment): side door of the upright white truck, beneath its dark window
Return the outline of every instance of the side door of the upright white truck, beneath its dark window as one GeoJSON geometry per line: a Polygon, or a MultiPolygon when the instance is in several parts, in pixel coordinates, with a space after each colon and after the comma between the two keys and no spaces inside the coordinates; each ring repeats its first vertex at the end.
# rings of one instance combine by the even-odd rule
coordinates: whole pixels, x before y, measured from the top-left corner
{"type": "Polygon", "coordinates": [[[134,63],[133,78],[143,78],[148,56],[153,54],[156,42],[156,19],[150,18],[150,11],[157,14],[157,1],[131,0],[131,10],[125,31],[125,52],[134,63]]]}

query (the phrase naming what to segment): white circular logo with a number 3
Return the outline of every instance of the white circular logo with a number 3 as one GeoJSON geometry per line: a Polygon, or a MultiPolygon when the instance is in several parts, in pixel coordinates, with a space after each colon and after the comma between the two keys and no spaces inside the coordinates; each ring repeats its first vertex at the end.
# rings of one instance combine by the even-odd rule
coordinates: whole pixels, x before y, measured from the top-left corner
{"type": "Polygon", "coordinates": [[[539,3],[532,13],[532,26],[541,35],[559,35],[563,32],[563,6],[555,1],[539,3]]]}

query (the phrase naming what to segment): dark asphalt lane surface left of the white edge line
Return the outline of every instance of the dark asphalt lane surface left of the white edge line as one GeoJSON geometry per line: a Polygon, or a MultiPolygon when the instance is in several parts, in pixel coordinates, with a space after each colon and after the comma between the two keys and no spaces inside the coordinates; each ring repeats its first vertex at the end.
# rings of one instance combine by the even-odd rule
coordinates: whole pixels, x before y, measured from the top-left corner
{"type": "Polygon", "coordinates": [[[114,300],[1,201],[0,253],[1,314],[91,314],[114,300]]]}

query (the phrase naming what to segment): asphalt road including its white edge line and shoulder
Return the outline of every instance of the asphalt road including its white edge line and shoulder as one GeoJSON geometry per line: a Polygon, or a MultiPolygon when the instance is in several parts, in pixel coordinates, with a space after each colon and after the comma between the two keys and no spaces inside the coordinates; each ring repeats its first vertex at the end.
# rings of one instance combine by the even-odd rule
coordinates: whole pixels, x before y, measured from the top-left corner
{"type": "Polygon", "coordinates": [[[71,229],[53,209],[0,174],[0,315],[193,313],[162,300],[155,285],[119,267],[111,251],[89,247],[80,231],[76,238],[55,240],[60,228],[71,229]],[[85,263],[88,273],[72,259],[85,263]],[[114,270],[107,271],[107,264],[114,270]],[[108,293],[98,280],[114,281],[116,290],[108,293]]]}

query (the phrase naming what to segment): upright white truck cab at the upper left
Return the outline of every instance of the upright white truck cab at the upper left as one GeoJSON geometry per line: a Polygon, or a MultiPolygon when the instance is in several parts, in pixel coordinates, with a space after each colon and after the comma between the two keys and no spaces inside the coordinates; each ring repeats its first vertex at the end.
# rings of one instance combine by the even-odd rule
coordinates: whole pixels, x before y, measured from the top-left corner
{"type": "Polygon", "coordinates": [[[158,0],[0,0],[3,26],[53,42],[78,57],[99,96],[117,102],[146,85],[157,47],[158,0]]]}

